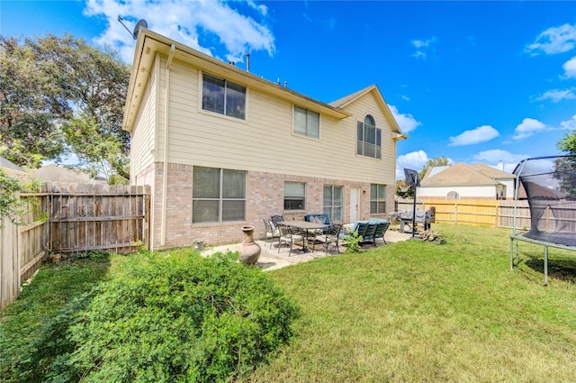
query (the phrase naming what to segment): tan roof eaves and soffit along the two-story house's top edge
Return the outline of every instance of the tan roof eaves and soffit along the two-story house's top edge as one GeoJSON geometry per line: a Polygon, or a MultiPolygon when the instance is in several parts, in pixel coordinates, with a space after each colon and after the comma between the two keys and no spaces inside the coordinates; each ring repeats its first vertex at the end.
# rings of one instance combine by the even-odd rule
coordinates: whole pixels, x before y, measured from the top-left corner
{"type": "MultiPolygon", "coordinates": [[[[134,61],[130,73],[127,103],[124,108],[124,116],[122,120],[122,129],[128,132],[131,132],[134,127],[139,105],[148,83],[150,75],[149,71],[153,68],[154,60],[158,53],[168,58],[166,64],[168,68],[173,59],[178,59],[183,62],[192,63],[199,68],[228,78],[231,81],[238,81],[239,84],[253,87],[269,95],[282,97],[285,100],[292,101],[295,104],[310,108],[321,114],[326,114],[338,119],[350,116],[350,114],[338,107],[322,103],[308,96],[303,96],[288,87],[283,87],[275,82],[260,78],[257,75],[231,65],[228,62],[214,59],[198,50],[193,50],[184,44],[168,39],[166,36],[162,36],[161,34],[152,32],[146,28],[140,28],[139,38],[135,48],[134,61]]],[[[373,88],[366,89],[369,89],[368,91],[374,91],[373,88]]],[[[377,88],[375,89],[378,91],[377,88]]],[[[380,92],[378,91],[378,93],[380,92]]],[[[379,97],[383,100],[382,95],[379,97]]],[[[383,101],[381,102],[383,103],[383,101]]],[[[387,114],[392,115],[390,110],[388,110],[388,107],[385,106],[385,103],[384,107],[387,110],[387,114]]],[[[393,118],[392,121],[393,124],[391,123],[391,125],[393,129],[398,128],[398,124],[393,118]]],[[[400,133],[400,128],[398,128],[398,132],[400,133]]]]}

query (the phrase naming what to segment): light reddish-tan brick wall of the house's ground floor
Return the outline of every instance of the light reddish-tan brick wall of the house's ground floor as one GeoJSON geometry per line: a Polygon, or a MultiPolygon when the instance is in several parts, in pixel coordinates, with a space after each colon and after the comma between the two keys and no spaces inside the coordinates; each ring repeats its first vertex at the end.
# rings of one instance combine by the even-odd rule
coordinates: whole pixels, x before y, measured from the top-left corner
{"type": "MultiPolygon", "coordinates": [[[[192,223],[192,187],[193,166],[169,164],[167,167],[166,208],[163,206],[163,164],[157,162],[139,175],[134,175],[132,183],[149,181],[151,196],[151,248],[164,250],[193,246],[193,242],[202,241],[204,245],[239,243],[242,241],[241,227],[254,225],[255,238],[266,237],[263,219],[272,214],[283,214],[285,220],[302,220],[305,214],[322,213],[324,185],[344,187],[343,223],[350,219],[350,187],[359,187],[360,205],[358,219],[366,220],[370,215],[370,184],[350,182],[340,179],[309,178],[266,172],[247,172],[246,221],[233,223],[192,223]],[[153,171],[153,175],[150,174],[153,171]],[[284,211],[284,181],[304,182],[306,184],[306,209],[303,211],[284,211]],[[165,214],[165,215],[163,215],[165,214]],[[162,232],[162,221],[166,219],[166,233],[162,232]],[[163,235],[165,236],[163,242],[163,235]]],[[[148,182],[147,182],[148,183],[148,182]]],[[[394,189],[386,188],[386,207],[393,211],[394,189]]],[[[372,215],[374,218],[386,218],[386,214],[372,215]]]]}

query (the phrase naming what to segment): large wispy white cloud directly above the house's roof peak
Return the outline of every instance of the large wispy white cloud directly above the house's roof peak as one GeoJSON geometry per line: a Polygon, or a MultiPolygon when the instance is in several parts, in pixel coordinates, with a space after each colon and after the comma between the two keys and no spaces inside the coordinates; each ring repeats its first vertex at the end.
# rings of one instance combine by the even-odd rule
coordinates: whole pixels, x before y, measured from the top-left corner
{"type": "MultiPolygon", "coordinates": [[[[265,5],[247,5],[247,13],[266,18],[265,5]]],[[[239,14],[223,1],[88,0],[85,14],[106,18],[108,27],[96,42],[112,45],[126,62],[132,61],[134,41],[118,22],[119,15],[130,30],[145,19],[148,29],[227,61],[243,62],[247,51],[275,52],[275,37],[265,23],[239,14]]]]}

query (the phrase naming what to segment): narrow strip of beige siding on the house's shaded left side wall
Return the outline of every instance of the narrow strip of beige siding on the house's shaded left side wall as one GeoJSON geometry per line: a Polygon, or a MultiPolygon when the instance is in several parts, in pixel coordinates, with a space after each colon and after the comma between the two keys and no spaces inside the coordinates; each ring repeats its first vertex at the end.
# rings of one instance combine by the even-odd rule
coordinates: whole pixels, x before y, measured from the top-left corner
{"type": "Polygon", "coordinates": [[[140,105],[136,124],[130,137],[130,173],[139,174],[154,162],[157,115],[157,72],[152,71],[140,105]]]}

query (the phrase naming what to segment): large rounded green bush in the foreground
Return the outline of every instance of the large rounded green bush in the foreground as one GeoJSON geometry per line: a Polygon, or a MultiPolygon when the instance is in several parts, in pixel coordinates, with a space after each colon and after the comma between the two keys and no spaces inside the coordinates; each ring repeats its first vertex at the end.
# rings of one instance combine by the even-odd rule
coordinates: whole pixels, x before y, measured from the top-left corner
{"type": "Polygon", "coordinates": [[[52,363],[52,380],[229,380],[287,341],[297,315],[236,253],[139,253],[91,295],[69,327],[76,350],[52,363]]]}

